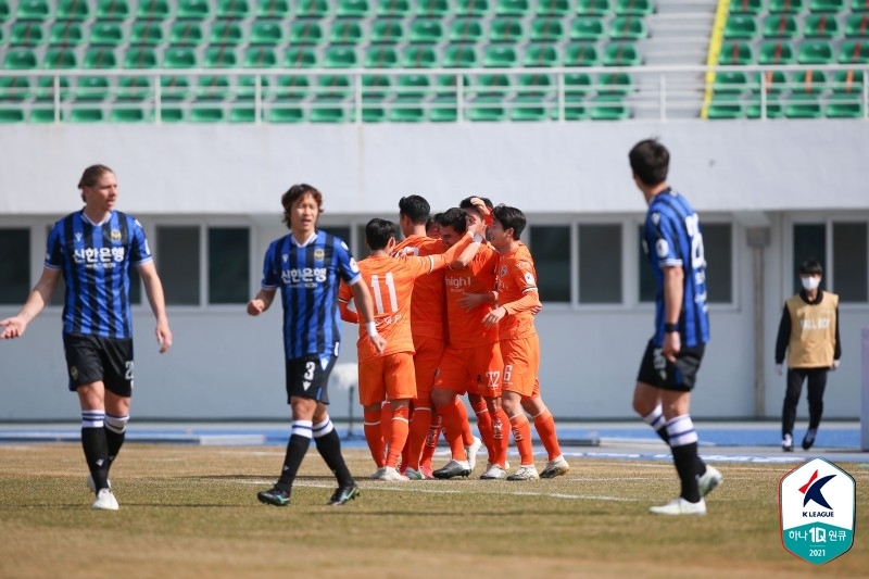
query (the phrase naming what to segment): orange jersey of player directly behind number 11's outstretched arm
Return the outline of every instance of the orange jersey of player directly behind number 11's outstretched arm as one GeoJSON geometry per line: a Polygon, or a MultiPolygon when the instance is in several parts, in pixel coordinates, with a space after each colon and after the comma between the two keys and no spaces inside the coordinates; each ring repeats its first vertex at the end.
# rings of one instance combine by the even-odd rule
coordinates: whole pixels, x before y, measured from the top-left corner
{"type": "MultiPolygon", "coordinates": [[[[393,255],[439,255],[446,251],[440,239],[411,236],[395,246],[393,255]]],[[[415,338],[445,339],[446,298],[443,270],[420,277],[414,284],[411,302],[411,331],[415,338]]]]}

